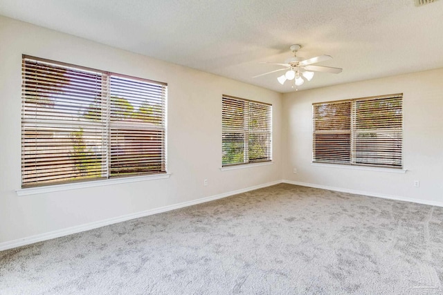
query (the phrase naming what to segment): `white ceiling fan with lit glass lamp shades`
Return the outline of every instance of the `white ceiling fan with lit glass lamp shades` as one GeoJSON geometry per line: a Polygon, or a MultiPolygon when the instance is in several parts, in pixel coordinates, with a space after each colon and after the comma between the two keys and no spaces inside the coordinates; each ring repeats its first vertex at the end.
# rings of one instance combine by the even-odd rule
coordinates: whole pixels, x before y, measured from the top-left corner
{"type": "Polygon", "coordinates": [[[296,86],[300,86],[303,83],[305,83],[303,77],[307,79],[307,81],[311,81],[312,77],[314,77],[314,72],[338,74],[341,73],[341,71],[343,70],[342,68],[332,68],[330,66],[314,66],[313,64],[316,64],[320,61],[327,61],[329,59],[332,59],[332,56],[320,55],[318,57],[311,57],[310,59],[305,59],[305,57],[298,57],[297,51],[301,47],[302,46],[298,44],[291,45],[290,49],[293,52],[293,57],[286,59],[284,61],[284,64],[262,62],[262,64],[273,64],[276,66],[284,66],[284,68],[280,68],[278,70],[272,70],[271,72],[260,74],[254,76],[253,78],[261,77],[271,73],[280,72],[281,70],[287,70],[287,72],[284,75],[281,75],[280,77],[277,78],[278,82],[283,85],[284,82],[286,82],[287,80],[294,80],[294,84],[296,86]]]}

